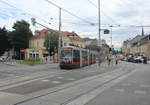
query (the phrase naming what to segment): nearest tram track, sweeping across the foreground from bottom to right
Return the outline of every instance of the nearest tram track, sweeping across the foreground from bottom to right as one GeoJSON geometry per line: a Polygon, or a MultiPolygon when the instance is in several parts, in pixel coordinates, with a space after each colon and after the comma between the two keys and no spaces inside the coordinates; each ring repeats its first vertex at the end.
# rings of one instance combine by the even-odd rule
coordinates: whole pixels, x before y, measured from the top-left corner
{"type": "MultiPolygon", "coordinates": [[[[126,68],[124,67],[124,69],[126,69],[126,68]]],[[[65,84],[63,86],[59,86],[58,88],[51,89],[50,92],[46,92],[46,93],[37,95],[35,97],[30,97],[30,98],[28,98],[26,100],[17,102],[17,103],[12,104],[12,105],[22,105],[22,104],[24,105],[24,103],[28,103],[30,101],[40,99],[41,97],[44,97],[44,96],[48,96],[48,95],[51,95],[51,96],[54,95],[55,96],[55,93],[57,93],[57,92],[64,92],[64,91],[67,91],[67,89],[71,89],[72,88],[72,89],[78,90],[78,88],[80,86],[84,87],[84,85],[90,85],[90,84],[93,85],[93,87],[91,89],[86,90],[86,92],[80,93],[80,94],[72,96],[72,97],[68,97],[68,99],[66,99],[63,102],[58,104],[58,105],[65,105],[68,102],[76,99],[77,97],[80,97],[80,96],[82,96],[84,94],[87,94],[90,91],[93,91],[94,89],[97,89],[97,88],[99,88],[99,87],[101,87],[101,86],[103,86],[103,85],[105,85],[105,84],[107,84],[107,83],[109,83],[109,82],[111,82],[113,80],[116,80],[116,79],[120,78],[123,75],[126,75],[126,74],[130,73],[130,72],[131,72],[131,70],[115,70],[115,71],[112,71],[112,72],[107,72],[107,73],[103,73],[103,74],[100,74],[100,75],[92,76],[92,77],[89,77],[89,78],[85,78],[85,79],[82,79],[82,80],[75,81],[75,82],[70,83],[70,84],[65,84]],[[98,83],[100,83],[100,84],[96,85],[95,84],[96,81],[98,83]],[[94,86],[94,84],[96,86],[94,86]]],[[[49,98],[51,98],[51,97],[49,97],[49,98]]],[[[25,105],[28,105],[28,104],[25,104],[25,105]]]]}

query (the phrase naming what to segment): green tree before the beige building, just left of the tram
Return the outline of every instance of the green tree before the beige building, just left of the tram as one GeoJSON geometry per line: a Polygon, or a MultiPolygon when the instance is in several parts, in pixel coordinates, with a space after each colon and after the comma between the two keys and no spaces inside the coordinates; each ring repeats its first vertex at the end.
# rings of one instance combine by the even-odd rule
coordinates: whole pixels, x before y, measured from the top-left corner
{"type": "Polygon", "coordinates": [[[54,55],[58,50],[58,32],[48,32],[45,36],[44,46],[50,56],[54,55]]]}

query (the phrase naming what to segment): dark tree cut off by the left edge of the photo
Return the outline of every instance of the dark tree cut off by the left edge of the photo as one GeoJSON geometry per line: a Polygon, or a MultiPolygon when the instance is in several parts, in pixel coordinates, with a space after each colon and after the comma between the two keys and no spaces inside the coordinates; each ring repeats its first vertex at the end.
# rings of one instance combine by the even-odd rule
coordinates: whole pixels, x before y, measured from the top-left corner
{"type": "Polygon", "coordinates": [[[2,56],[9,48],[8,31],[5,27],[0,28],[0,56],[2,56]]]}

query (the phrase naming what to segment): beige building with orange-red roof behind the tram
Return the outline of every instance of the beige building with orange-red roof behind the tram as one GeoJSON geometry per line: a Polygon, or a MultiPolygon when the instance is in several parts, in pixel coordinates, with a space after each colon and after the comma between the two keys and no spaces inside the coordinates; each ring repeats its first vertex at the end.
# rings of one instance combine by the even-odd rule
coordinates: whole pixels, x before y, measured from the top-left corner
{"type": "MultiPolygon", "coordinates": [[[[55,30],[43,29],[36,31],[35,35],[29,41],[29,49],[25,51],[26,59],[42,59],[48,55],[46,48],[44,47],[45,36],[48,32],[55,30]]],[[[56,31],[55,31],[56,32],[56,31]]],[[[75,32],[61,32],[62,46],[76,45],[85,48],[85,41],[75,32]]],[[[57,55],[57,54],[56,54],[57,55]]]]}

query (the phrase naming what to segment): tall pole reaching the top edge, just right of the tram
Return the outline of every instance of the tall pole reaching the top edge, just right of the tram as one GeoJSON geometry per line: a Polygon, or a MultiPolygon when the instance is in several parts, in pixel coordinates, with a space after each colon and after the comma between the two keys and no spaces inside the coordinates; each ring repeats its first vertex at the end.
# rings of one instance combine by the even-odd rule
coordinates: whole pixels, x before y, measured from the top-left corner
{"type": "MultiPolygon", "coordinates": [[[[99,48],[101,47],[101,12],[100,12],[100,0],[98,0],[98,33],[99,33],[99,48]]],[[[101,59],[100,59],[100,49],[99,49],[99,66],[101,63],[101,59]]]]}

